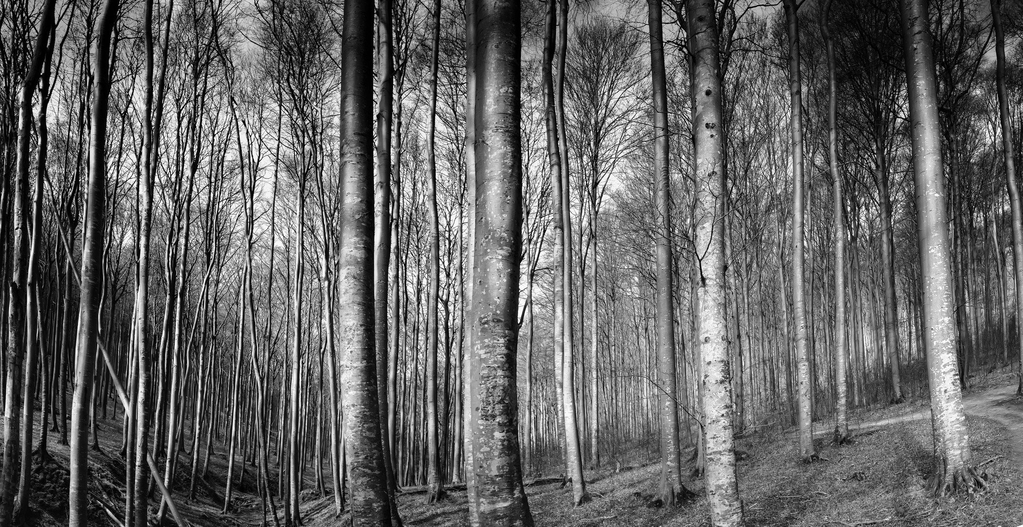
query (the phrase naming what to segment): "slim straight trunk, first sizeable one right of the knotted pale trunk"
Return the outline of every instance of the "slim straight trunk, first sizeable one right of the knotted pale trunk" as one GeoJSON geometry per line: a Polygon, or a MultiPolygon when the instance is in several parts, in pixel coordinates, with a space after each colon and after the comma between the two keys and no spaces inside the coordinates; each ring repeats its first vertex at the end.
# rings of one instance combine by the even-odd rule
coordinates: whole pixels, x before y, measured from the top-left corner
{"type": "Polygon", "coordinates": [[[789,97],[792,104],[792,302],[796,337],[797,397],[799,402],[799,454],[804,462],[817,459],[813,449],[813,382],[806,327],[806,287],[803,213],[803,81],[799,71],[799,18],[796,0],[785,0],[789,28],[789,97]]]}

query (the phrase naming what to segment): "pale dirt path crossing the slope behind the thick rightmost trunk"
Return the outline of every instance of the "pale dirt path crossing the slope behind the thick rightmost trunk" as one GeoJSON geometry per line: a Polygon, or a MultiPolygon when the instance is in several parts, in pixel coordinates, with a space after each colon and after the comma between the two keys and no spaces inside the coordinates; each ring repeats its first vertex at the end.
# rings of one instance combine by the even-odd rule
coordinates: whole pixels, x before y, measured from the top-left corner
{"type": "MultiPolygon", "coordinates": [[[[1009,442],[1013,451],[1013,462],[1023,467],[1023,399],[1016,396],[1016,384],[990,388],[971,393],[963,397],[966,413],[971,416],[991,419],[1002,423],[1009,430],[1009,442]]],[[[903,416],[882,419],[870,423],[850,426],[850,432],[865,432],[884,426],[910,421],[931,419],[931,410],[924,409],[903,416]]],[[[831,432],[821,430],[814,435],[827,435],[831,432]]]]}

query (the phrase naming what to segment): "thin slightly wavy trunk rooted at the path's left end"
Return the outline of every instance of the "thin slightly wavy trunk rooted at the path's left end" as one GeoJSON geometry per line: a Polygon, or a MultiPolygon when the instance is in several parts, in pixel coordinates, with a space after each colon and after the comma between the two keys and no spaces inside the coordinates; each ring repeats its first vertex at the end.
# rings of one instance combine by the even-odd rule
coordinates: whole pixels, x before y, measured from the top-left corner
{"type": "Polygon", "coordinates": [[[828,27],[832,0],[820,8],[820,35],[828,49],[828,159],[835,194],[835,438],[836,444],[849,441],[849,390],[846,384],[845,342],[845,205],[842,198],[842,173],[838,162],[838,81],[835,42],[828,27]]]}

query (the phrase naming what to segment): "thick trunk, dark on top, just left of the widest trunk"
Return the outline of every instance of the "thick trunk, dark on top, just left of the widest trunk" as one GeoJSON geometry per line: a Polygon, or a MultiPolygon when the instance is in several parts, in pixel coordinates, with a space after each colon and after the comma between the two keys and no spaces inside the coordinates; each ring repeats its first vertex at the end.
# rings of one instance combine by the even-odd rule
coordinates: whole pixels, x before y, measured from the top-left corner
{"type": "Polygon", "coordinates": [[[352,519],[390,526],[373,343],[373,2],[345,2],[342,35],[342,218],[339,339],[352,519]]]}

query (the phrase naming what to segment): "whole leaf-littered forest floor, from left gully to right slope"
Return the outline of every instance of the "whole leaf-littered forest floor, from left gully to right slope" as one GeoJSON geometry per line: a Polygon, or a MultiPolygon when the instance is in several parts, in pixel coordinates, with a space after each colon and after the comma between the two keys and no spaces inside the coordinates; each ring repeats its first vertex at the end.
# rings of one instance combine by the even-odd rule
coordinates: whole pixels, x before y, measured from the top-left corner
{"type": "MultiPolygon", "coordinates": [[[[931,473],[933,438],[926,400],[909,400],[855,414],[854,443],[831,444],[830,425],[819,429],[814,443],[821,461],[799,462],[792,431],[744,437],[737,447],[749,453],[739,462],[739,484],[747,525],[760,526],[860,526],[881,527],[1016,527],[1023,524],[1023,397],[1016,395],[1016,377],[1008,371],[978,379],[965,397],[973,456],[987,473],[987,487],[972,496],[934,499],[925,495],[931,473]]],[[[37,429],[39,417],[37,414],[37,429]]],[[[116,514],[124,507],[124,461],[119,454],[121,419],[99,421],[101,451],[90,452],[90,518],[95,525],[116,526],[100,501],[116,514]]],[[[226,454],[215,445],[207,478],[196,478],[195,499],[187,499],[190,457],[183,457],[176,474],[175,502],[191,525],[256,526],[261,523],[254,468],[247,466],[235,486],[231,513],[223,506],[226,454]],[[187,460],[187,461],[186,461],[187,460]]],[[[66,525],[68,447],[50,436],[53,461],[36,466],[31,523],[66,525]]],[[[271,462],[274,460],[271,459],[271,462]]],[[[38,463],[38,461],[37,461],[38,463]]],[[[586,471],[591,499],[571,507],[571,488],[540,479],[527,482],[529,506],[537,526],[705,526],[709,510],[700,479],[684,478],[696,497],[677,509],[651,507],[658,486],[658,463],[586,471]]],[[[161,463],[161,469],[163,464],[161,463]]],[[[683,467],[685,474],[692,462],[683,467]]],[[[237,470],[237,469],[236,469],[237,470]]],[[[327,469],[325,469],[327,470],[327,469]]],[[[271,463],[271,489],[276,489],[276,465],[271,463]]],[[[326,475],[329,481],[329,475],[326,475]]],[[[307,527],[349,525],[348,515],[337,518],[331,496],[315,491],[314,473],[307,470],[302,494],[303,522],[307,527]]],[[[454,487],[436,505],[426,505],[421,488],[404,489],[399,511],[409,527],[469,525],[464,486],[454,487]]],[[[159,493],[157,494],[159,496],[159,493]]],[[[159,505],[159,499],[154,500],[159,505]]],[[[277,501],[278,513],[280,501],[277,501]]],[[[153,508],[153,512],[155,509],[153,508]]],[[[174,525],[168,518],[165,525],[174,525]]],[[[269,525],[273,525],[272,520],[269,525]]]]}

